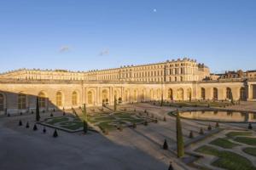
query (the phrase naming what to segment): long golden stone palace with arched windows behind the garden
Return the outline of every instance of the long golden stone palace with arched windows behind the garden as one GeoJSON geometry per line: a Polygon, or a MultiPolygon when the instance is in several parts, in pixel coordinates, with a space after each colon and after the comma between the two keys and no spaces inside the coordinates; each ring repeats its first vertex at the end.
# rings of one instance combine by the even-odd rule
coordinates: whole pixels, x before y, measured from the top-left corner
{"type": "Polygon", "coordinates": [[[256,100],[256,71],[212,75],[195,59],[102,71],[28,70],[0,74],[0,113],[149,100],[256,100]],[[235,76],[234,76],[235,75],[235,76]]]}

